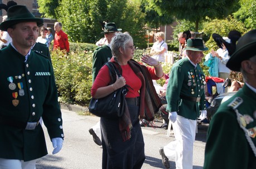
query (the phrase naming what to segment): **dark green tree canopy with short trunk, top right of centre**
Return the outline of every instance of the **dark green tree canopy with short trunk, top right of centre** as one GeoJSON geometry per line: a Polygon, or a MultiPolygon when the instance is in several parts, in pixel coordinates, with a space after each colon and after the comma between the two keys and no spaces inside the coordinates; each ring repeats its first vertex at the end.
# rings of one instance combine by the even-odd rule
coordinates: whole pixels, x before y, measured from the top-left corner
{"type": "Polygon", "coordinates": [[[146,0],[160,16],[171,16],[195,22],[195,31],[199,22],[208,18],[225,18],[237,7],[238,0],[146,0]]]}

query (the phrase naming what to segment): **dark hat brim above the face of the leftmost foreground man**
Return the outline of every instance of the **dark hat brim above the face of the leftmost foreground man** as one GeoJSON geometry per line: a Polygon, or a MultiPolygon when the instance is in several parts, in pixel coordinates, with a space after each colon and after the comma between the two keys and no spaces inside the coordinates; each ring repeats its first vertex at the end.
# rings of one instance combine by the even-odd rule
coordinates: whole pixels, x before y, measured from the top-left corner
{"type": "Polygon", "coordinates": [[[9,27],[11,27],[14,24],[21,23],[21,22],[36,22],[38,27],[41,27],[43,25],[43,19],[42,18],[21,18],[21,19],[12,19],[4,21],[0,24],[0,29],[3,31],[7,31],[9,27]]]}

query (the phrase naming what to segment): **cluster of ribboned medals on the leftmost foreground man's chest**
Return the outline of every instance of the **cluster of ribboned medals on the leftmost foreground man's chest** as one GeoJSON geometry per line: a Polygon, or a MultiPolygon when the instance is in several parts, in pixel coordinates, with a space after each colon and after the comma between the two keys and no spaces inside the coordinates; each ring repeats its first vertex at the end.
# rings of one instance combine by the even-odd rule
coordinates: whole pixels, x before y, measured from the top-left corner
{"type": "MultiPolygon", "coordinates": [[[[19,76],[14,76],[14,78],[15,79],[21,79],[23,76],[24,76],[24,74],[19,75],[19,76]]],[[[25,92],[24,92],[24,89],[23,89],[23,83],[22,82],[17,83],[17,86],[16,86],[16,84],[13,83],[13,77],[12,76],[9,76],[7,78],[7,80],[10,82],[9,85],[8,85],[10,90],[15,90],[17,88],[17,86],[19,88],[18,92],[13,92],[12,93],[12,96],[14,98],[14,100],[12,100],[12,104],[14,106],[17,106],[19,104],[19,100],[17,99],[18,95],[19,96],[24,96],[25,95],[25,92]]]]}

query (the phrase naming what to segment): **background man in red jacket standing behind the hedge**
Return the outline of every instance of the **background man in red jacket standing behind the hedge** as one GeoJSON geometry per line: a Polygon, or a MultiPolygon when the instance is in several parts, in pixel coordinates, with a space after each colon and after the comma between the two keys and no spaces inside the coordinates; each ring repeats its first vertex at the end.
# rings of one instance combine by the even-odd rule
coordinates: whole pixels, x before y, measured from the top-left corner
{"type": "Polygon", "coordinates": [[[68,43],[68,37],[65,32],[62,30],[62,24],[60,22],[55,22],[55,37],[53,41],[53,50],[60,49],[70,52],[70,43],[68,43]]]}

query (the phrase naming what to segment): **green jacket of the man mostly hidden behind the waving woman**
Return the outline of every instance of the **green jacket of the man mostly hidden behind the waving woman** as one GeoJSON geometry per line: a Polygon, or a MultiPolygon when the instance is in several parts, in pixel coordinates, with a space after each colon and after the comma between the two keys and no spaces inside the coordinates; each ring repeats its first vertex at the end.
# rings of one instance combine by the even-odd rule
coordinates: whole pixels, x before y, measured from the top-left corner
{"type": "Polygon", "coordinates": [[[112,58],[112,52],[110,47],[102,45],[93,52],[92,57],[92,82],[96,79],[99,70],[104,63],[108,62],[112,58]]]}

